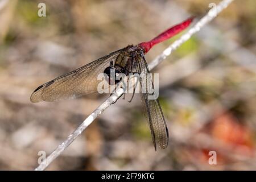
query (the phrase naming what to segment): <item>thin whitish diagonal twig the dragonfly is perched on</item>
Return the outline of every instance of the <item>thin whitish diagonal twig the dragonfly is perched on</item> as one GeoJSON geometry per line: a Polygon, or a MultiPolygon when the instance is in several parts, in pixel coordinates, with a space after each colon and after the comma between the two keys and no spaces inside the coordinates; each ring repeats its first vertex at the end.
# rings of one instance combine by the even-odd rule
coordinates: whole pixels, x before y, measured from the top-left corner
{"type": "MultiPolygon", "coordinates": [[[[216,15],[219,14],[222,10],[224,10],[233,0],[224,0],[221,1],[214,10],[216,10],[216,15]]],[[[215,16],[212,14],[213,9],[211,9],[207,15],[199,20],[188,32],[186,32],[180,39],[176,40],[171,44],[167,49],[163,51],[162,54],[157,56],[150,64],[148,64],[148,68],[151,70],[156,67],[156,65],[160,64],[167,56],[171,54],[177,47],[180,47],[181,44],[186,42],[193,34],[200,31],[205,24],[210,22],[215,16]]],[[[68,138],[61,143],[35,170],[44,170],[52,161],[57,158],[71,144],[81,133],[104,111],[107,107],[113,104],[118,100],[119,97],[125,92],[122,88],[115,90],[115,93],[108,97],[100,106],[97,107],[96,110],[93,111],[92,114],[89,115],[88,118],[85,119],[84,122],[81,123],[79,127],[68,138]]]]}

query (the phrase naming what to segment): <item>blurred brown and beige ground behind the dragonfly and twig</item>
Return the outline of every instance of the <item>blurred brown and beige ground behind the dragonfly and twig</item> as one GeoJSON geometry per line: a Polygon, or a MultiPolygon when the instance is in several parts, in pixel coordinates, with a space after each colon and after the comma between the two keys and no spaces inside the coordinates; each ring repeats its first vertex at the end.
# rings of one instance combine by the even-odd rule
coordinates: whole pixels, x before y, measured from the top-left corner
{"type": "MultiPolygon", "coordinates": [[[[32,104],[35,88],[191,15],[198,20],[212,2],[220,1],[1,0],[0,169],[34,169],[39,151],[53,151],[108,97],[32,104]]],[[[135,96],[105,110],[47,169],[255,170],[255,8],[254,0],[234,1],[152,71],[170,130],[165,151],[155,152],[135,96]]],[[[152,48],[148,63],[179,36],[152,48]]]]}

